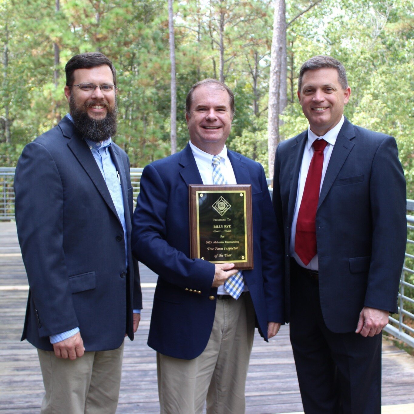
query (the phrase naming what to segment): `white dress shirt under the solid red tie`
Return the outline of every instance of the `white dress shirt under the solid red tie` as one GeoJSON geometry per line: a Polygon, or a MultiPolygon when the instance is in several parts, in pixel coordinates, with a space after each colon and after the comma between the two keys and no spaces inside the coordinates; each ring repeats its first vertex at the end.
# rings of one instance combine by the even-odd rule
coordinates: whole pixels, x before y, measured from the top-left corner
{"type": "Polygon", "coordinates": [[[323,150],[323,167],[322,167],[322,178],[320,180],[320,189],[322,188],[323,179],[325,178],[326,169],[329,164],[329,160],[332,155],[332,150],[334,148],[336,139],[339,134],[339,130],[342,128],[342,124],[344,123],[344,116],[342,115],[341,120],[337,125],[335,125],[331,130],[329,130],[325,135],[322,137],[318,137],[315,135],[311,130],[310,127],[308,128],[308,140],[305,144],[305,150],[303,151],[303,158],[301,164],[301,170],[299,171],[299,181],[298,181],[298,193],[296,194],[296,204],[293,214],[293,221],[291,227],[291,236],[290,236],[290,246],[289,246],[289,253],[291,257],[293,257],[296,262],[302,267],[306,267],[306,269],[310,270],[319,270],[318,265],[318,255],[315,255],[312,260],[305,266],[299,256],[295,253],[295,236],[296,236],[296,221],[298,220],[298,213],[299,207],[301,205],[302,196],[303,196],[303,189],[305,188],[306,176],[308,175],[308,169],[310,165],[310,161],[312,159],[313,153],[315,152],[312,144],[315,140],[324,139],[328,145],[323,150]]]}

